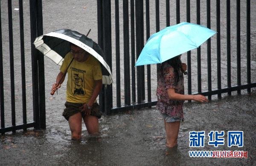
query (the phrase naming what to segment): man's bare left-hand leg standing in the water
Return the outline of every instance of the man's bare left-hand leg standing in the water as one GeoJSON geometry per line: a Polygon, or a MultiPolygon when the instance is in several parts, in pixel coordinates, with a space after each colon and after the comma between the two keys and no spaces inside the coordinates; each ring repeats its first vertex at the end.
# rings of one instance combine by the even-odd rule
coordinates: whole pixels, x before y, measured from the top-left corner
{"type": "Polygon", "coordinates": [[[69,117],[68,123],[71,131],[71,139],[79,140],[81,139],[82,131],[82,115],[80,112],[73,114],[69,117]]]}

